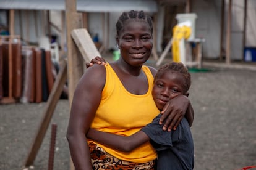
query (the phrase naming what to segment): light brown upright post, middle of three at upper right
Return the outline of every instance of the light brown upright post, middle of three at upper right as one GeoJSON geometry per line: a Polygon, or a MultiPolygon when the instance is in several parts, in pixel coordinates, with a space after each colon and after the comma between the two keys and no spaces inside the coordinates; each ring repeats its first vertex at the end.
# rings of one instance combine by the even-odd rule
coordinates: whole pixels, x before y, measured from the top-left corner
{"type": "Polygon", "coordinates": [[[232,0],[229,0],[227,33],[226,33],[226,64],[228,65],[230,64],[231,20],[232,20],[232,0]]]}

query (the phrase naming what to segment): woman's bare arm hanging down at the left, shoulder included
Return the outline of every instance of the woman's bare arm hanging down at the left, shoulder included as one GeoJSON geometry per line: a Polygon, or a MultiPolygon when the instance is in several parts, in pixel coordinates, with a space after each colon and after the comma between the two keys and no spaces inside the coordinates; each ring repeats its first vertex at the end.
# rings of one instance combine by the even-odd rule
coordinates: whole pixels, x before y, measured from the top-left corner
{"type": "Polygon", "coordinates": [[[102,65],[89,68],[82,76],[74,92],[67,128],[70,155],[75,169],[92,169],[90,152],[85,134],[100,104],[105,84],[106,70],[102,65]]]}

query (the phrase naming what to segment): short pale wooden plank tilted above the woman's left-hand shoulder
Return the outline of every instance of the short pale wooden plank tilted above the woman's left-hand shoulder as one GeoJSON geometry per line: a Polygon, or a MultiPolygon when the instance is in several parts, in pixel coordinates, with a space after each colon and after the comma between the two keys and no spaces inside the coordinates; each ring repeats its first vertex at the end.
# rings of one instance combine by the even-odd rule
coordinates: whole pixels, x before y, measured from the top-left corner
{"type": "Polygon", "coordinates": [[[96,56],[101,57],[87,29],[75,29],[71,34],[85,62],[90,62],[96,56]]]}

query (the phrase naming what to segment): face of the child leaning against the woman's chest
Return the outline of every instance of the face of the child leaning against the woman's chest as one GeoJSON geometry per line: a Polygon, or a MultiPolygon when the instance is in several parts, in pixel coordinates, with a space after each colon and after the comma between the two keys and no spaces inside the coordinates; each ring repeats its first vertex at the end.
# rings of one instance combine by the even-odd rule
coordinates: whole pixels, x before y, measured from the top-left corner
{"type": "Polygon", "coordinates": [[[183,84],[185,78],[181,73],[167,71],[156,79],[153,86],[153,99],[158,109],[163,110],[164,105],[174,97],[185,94],[183,84]]]}

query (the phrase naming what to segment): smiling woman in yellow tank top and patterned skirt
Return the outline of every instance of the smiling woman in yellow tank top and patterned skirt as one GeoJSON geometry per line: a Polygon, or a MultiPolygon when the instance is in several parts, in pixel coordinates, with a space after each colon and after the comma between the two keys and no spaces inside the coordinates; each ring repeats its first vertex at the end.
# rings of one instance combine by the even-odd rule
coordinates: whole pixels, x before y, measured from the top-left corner
{"type": "MultiPolygon", "coordinates": [[[[143,66],[153,47],[151,17],[143,11],[124,12],[116,29],[119,60],[88,68],[75,89],[67,129],[75,169],[153,169],[156,152],[149,142],[124,153],[93,140],[87,142],[85,136],[90,128],[130,136],[159,112],[151,95],[156,70],[143,66]]],[[[163,129],[170,131],[186,111],[193,116],[186,96],[171,100],[160,119],[160,123],[166,119],[163,129]]]]}

